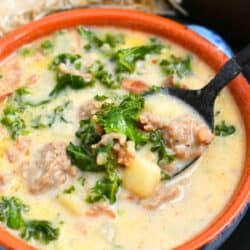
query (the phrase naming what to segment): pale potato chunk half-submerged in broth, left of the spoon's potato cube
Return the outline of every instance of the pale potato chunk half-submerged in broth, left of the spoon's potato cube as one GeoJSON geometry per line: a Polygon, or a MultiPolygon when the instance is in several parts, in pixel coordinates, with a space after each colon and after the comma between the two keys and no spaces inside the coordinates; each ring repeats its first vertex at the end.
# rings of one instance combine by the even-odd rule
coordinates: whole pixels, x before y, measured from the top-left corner
{"type": "Polygon", "coordinates": [[[77,196],[71,194],[60,194],[57,197],[59,203],[74,215],[83,215],[86,205],[77,196]]]}

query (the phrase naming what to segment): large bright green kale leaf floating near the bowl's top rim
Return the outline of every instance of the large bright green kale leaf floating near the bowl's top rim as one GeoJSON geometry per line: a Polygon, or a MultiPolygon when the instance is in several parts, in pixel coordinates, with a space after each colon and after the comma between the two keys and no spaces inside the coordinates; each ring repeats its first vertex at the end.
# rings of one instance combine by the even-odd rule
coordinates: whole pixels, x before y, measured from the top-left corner
{"type": "Polygon", "coordinates": [[[161,44],[151,44],[120,49],[113,55],[113,59],[116,62],[116,71],[132,74],[135,71],[138,60],[143,60],[148,54],[160,54],[162,48],[161,44]]]}

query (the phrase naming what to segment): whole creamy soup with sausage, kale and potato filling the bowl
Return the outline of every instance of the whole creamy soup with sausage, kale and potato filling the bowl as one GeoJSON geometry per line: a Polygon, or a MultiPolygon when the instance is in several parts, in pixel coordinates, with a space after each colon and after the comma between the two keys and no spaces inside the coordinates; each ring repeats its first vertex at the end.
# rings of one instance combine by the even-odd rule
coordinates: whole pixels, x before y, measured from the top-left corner
{"type": "Polygon", "coordinates": [[[0,75],[0,221],[35,248],[171,249],[208,227],[238,184],[238,108],[224,89],[212,134],[163,94],[214,75],[170,41],[61,30],[20,48],[0,75]]]}

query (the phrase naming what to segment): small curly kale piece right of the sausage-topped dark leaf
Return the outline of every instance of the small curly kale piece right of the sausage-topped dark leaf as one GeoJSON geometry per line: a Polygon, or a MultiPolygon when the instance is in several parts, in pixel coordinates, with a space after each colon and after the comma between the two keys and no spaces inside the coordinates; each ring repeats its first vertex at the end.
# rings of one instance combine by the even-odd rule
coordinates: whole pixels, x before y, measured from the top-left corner
{"type": "Polygon", "coordinates": [[[118,83],[113,78],[112,74],[105,70],[104,65],[100,61],[96,61],[90,68],[89,72],[93,75],[94,79],[98,80],[102,85],[107,88],[117,88],[118,83]]]}

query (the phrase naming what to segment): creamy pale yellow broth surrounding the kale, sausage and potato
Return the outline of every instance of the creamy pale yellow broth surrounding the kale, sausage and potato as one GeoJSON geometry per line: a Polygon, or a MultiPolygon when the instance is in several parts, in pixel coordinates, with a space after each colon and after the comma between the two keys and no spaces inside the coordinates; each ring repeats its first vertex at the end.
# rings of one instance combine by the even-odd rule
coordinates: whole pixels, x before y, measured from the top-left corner
{"type": "MultiPolygon", "coordinates": [[[[149,35],[140,32],[115,28],[92,29],[99,35],[107,32],[122,33],[125,42],[117,48],[145,45],[149,39],[149,35]]],[[[148,86],[163,85],[166,76],[157,63],[151,62],[152,60],[159,62],[168,58],[170,54],[181,57],[191,56],[192,74],[178,79],[180,85],[185,84],[189,88],[197,89],[204,86],[214,75],[214,72],[197,56],[170,41],[164,41],[164,43],[166,43],[166,48],[161,51],[161,54],[147,55],[145,60],[138,61],[135,72],[129,78],[142,81],[148,86]]],[[[48,66],[57,54],[63,52],[80,54],[85,59],[82,62],[83,68],[99,59],[105,62],[109,70],[114,69],[113,63],[107,60],[104,53],[99,53],[97,49],[88,52],[83,50],[84,45],[86,42],[78,36],[75,30],[64,30],[26,46],[25,48],[31,51],[26,56],[22,55],[23,49],[19,50],[0,65],[0,74],[3,75],[0,80],[1,93],[5,94],[28,84],[31,93],[27,96],[29,101],[37,102],[46,99],[55,86],[55,72],[49,71],[48,66]],[[53,41],[54,49],[43,54],[40,44],[46,39],[53,41]],[[18,60],[21,61],[18,64],[22,72],[20,82],[17,84],[13,81],[6,88],[5,79],[9,74],[8,70],[13,68],[13,64],[15,65],[18,60]],[[30,80],[33,75],[37,76],[36,80],[34,77],[30,80]]],[[[11,79],[8,82],[11,82],[11,79]]],[[[215,124],[225,120],[228,124],[235,125],[236,133],[227,137],[216,136],[195,166],[176,179],[162,182],[163,186],[177,187],[179,195],[158,208],[147,209],[137,200],[128,199],[129,192],[121,186],[117,194],[117,202],[110,206],[115,218],[107,214],[87,216],[86,212],[91,209],[92,205],[86,203],[85,199],[89,189],[100,178],[100,174],[80,170],[77,170],[75,177],[68,177],[66,182],[58,187],[38,194],[29,192],[27,181],[18,174],[20,162],[36,161],[41,148],[52,141],[59,140],[66,145],[70,141],[76,143],[75,132],[79,128],[80,120],[79,108],[84,104],[87,105],[95,95],[103,94],[111,99],[119,99],[126,93],[125,90],[110,90],[97,83],[93,87],[79,90],[68,88],[51,103],[45,105],[44,109],[42,107],[28,109],[25,113],[25,121],[29,121],[31,117],[38,114],[51,113],[58,105],[70,101],[65,115],[67,123],[57,121],[51,128],[31,129],[29,134],[21,136],[21,138],[31,140],[30,152],[21,154],[20,159],[14,163],[9,162],[6,151],[15,144],[15,141],[10,138],[5,127],[1,127],[0,169],[1,174],[7,177],[6,184],[0,186],[0,194],[6,197],[18,197],[27,204],[30,210],[25,213],[25,218],[49,220],[60,228],[57,240],[47,245],[31,240],[29,241],[31,245],[39,249],[58,250],[171,249],[209,226],[225,208],[240,179],[245,154],[243,122],[231,94],[226,89],[216,100],[215,110],[220,111],[220,114],[215,117],[215,124]],[[233,155],[232,152],[234,152],[233,155]],[[78,180],[80,176],[86,178],[84,186],[78,180]],[[72,185],[75,187],[73,193],[63,193],[72,185]]],[[[6,102],[7,99],[3,101],[1,109],[4,108],[6,102]]],[[[188,106],[161,94],[147,98],[144,111],[153,112],[166,122],[186,113],[200,119],[188,106]]],[[[155,155],[147,146],[139,150],[138,154],[141,157],[153,159],[152,164],[155,162],[155,155]]],[[[11,230],[11,233],[19,235],[19,232],[15,230],[11,230]]]]}

